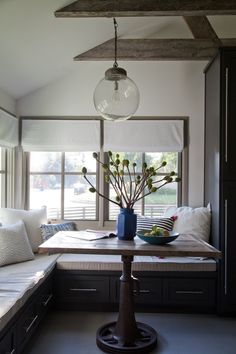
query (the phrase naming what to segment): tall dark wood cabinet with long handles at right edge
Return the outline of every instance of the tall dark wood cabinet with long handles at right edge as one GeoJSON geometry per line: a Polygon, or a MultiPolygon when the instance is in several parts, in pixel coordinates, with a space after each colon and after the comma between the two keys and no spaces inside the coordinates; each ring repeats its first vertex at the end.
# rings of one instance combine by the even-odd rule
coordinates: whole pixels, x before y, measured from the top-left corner
{"type": "Polygon", "coordinates": [[[218,308],[236,312],[236,49],[221,48],[205,71],[205,204],[212,243],[222,251],[218,308]]]}

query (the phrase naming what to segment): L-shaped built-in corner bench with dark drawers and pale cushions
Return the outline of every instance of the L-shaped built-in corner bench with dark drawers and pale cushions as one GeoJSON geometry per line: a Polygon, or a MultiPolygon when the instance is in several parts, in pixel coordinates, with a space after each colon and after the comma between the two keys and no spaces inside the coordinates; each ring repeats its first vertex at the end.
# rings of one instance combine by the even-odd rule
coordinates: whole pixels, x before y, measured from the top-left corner
{"type": "MultiPolygon", "coordinates": [[[[53,301],[62,309],[116,310],[121,266],[120,256],[64,254],[1,267],[0,354],[19,354],[53,301]]],[[[215,310],[215,260],[135,256],[133,272],[141,284],[136,309],[215,310]]]]}

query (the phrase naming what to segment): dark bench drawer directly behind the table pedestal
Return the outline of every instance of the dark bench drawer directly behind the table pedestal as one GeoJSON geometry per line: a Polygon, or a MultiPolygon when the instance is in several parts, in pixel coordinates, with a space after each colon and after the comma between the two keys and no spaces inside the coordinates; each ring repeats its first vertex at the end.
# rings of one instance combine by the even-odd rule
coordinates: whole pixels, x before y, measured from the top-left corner
{"type": "MultiPolygon", "coordinates": [[[[134,301],[145,306],[161,304],[162,302],[162,280],[152,277],[141,278],[140,290],[134,290],[134,301]]],[[[120,279],[111,279],[111,296],[114,302],[119,302],[120,279]]]]}

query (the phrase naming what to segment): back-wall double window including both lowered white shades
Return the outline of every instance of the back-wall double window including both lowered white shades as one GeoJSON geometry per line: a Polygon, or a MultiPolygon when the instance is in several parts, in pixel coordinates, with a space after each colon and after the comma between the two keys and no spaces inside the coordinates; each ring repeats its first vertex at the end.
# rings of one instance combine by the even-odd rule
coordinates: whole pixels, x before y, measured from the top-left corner
{"type": "MultiPolygon", "coordinates": [[[[29,156],[27,206],[38,208],[46,205],[49,218],[99,220],[101,226],[105,221],[116,219],[118,207],[107,199],[99,198],[97,193],[89,192],[90,185],[82,174],[84,166],[91,184],[97,190],[101,188],[107,198],[115,197],[113,188],[99,179],[103,171],[93,158],[93,151],[99,152],[100,160],[106,162],[108,154],[103,151],[123,149],[119,152],[120,158],[136,162],[135,174],[141,172],[144,162],[159,165],[166,160],[167,165],[160,170],[160,176],[176,171],[182,178],[182,160],[186,167],[186,155],[182,153],[184,146],[183,119],[137,119],[117,125],[97,120],[23,119],[22,147],[29,156]],[[52,134],[55,124],[57,134],[52,134]],[[166,152],[156,152],[164,149],[166,152]]],[[[180,205],[182,184],[168,184],[139,200],[135,204],[135,212],[161,216],[168,206],[180,205]]],[[[183,199],[185,194],[184,191],[183,199]]]]}

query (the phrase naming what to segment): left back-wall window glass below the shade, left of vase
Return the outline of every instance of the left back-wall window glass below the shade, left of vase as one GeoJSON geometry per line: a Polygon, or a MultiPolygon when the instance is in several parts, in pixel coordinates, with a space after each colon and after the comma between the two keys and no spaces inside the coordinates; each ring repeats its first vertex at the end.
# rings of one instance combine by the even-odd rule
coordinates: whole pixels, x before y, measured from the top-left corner
{"type": "Polygon", "coordinates": [[[47,206],[48,217],[70,220],[97,219],[97,197],[89,192],[81,170],[87,166],[97,184],[92,152],[31,152],[30,208],[47,206]]]}

